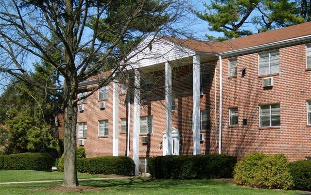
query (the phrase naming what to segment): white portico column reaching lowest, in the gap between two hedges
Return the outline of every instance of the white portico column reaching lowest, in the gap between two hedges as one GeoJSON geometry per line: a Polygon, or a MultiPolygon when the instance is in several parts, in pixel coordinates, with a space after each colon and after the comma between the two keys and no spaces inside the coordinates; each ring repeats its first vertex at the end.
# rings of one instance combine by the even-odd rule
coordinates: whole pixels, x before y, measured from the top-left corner
{"type": "Polygon", "coordinates": [[[139,164],[139,129],[140,129],[140,75],[137,69],[134,71],[134,109],[133,109],[133,160],[135,162],[135,176],[138,176],[139,164]]]}

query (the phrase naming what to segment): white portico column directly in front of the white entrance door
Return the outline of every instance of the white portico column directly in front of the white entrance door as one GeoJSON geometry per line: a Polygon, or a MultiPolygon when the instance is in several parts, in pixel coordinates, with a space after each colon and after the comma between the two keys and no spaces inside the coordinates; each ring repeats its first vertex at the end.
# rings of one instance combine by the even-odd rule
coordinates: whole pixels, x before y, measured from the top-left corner
{"type": "Polygon", "coordinates": [[[165,63],[165,125],[166,125],[166,155],[172,155],[172,67],[165,63]]]}

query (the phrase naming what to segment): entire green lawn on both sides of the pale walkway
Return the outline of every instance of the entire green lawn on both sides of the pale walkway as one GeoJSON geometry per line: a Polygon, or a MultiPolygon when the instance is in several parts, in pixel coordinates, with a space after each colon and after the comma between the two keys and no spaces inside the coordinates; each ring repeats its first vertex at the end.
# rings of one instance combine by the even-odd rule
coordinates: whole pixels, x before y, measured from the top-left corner
{"type": "MultiPolygon", "coordinates": [[[[99,178],[100,175],[78,174],[78,178],[99,178]]],[[[33,181],[62,179],[61,172],[42,172],[30,170],[0,170],[0,182],[33,181]]],[[[116,195],[286,195],[299,194],[299,191],[265,190],[236,186],[220,180],[171,180],[171,179],[107,179],[80,181],[80,185],[94,189],[79,192],[59,191],[62,182],[30,183],[30,184],[1,184],[0,195],[58,195],[58,194],[116,194],[116,195]]]]}

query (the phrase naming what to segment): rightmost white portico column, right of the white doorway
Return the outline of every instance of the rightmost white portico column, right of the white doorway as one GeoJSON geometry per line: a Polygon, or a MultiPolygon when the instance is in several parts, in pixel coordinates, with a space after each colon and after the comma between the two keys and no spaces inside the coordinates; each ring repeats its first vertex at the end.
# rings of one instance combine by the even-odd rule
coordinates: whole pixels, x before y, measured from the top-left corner
{"type": "Polygon", "coordinates": [[[193,56],[193,155],[200,154],[200,56],[193,56]]]}

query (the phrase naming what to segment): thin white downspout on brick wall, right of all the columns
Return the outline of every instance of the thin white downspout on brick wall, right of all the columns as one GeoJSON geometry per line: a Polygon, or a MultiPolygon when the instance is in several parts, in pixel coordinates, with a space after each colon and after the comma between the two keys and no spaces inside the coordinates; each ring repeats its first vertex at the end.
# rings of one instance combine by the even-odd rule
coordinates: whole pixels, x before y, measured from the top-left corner
{"type": "Polygon", "coordinates": [[[222,154],[222,116],[223,116],[223,62],[219,56],[219,146],[218,154],[222,154]]]}

